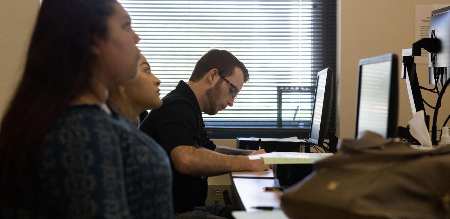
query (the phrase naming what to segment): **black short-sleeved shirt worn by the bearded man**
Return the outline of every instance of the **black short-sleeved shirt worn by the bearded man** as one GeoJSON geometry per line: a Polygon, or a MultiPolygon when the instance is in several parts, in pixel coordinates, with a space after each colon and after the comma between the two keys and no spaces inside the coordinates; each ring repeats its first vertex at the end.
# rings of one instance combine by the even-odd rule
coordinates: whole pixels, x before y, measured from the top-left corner
{"type": "MultiPolygon", "coordinates": [[[[162,106],[151,110],[139,129],[147,133],[166,150],[170,157],[180,145],[204,147],[211,151],[216,145],[207,137],[202,112],[195,94],[184,81],[162,98],[162,106]]],[[[178,172],[171,160],[173,172],[173,200],[175,212],[205,206],[207,177],[194,177],[178,172]]]]}

